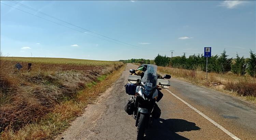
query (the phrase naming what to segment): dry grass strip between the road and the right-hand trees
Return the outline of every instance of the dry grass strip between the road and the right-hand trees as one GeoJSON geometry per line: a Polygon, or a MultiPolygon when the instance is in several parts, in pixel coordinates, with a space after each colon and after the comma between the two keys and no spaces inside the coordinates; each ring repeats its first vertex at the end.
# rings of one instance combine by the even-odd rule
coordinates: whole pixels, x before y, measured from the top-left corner
{"type": "Polygon", "coordinates": [[[246,100],[256,103],[256,79],[250,76],[234,74],[206,73],[187,69],[158,67],[160,73],[170,74],[172,77],[185,80],[194,84],[206,86],[225,93],[243,96],[246,100]]]}

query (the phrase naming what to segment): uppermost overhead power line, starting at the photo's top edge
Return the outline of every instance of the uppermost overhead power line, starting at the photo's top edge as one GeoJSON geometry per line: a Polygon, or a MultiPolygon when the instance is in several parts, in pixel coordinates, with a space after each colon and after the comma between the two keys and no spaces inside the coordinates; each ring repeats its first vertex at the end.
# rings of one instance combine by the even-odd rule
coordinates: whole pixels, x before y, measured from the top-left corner
{"type": "MultiPolygon", "coordinates": [[[[26,6],[26,5],[22,4],[22,3],[19,3],[19,2],[13,1],[13,0],[9,0],[9,1],[10,1],[10,2],[13,2],[13,3],[16,3],[16,4],[20,5],[20,6],[26,7],[27,9],[30,9],[30,10],[33,10],[33,11],[35,11],[35,12],[41,13],[41,14],[43,14],[43,15],[46,15],[46,16],[48,16],[48,17],[51,17],[51,18],[54,18],[54,19],[56,19],[56,20],[65,22],[65,23],[67,23],[67,24],[69,24],[69,25],[72,25],[72,26],[75,26],[75,27],[77,27],[77,28],[86,30],[86,31],[91,32],[91,33],[95,33],[95,32],[90,31],[90,30],[88,30],[88,29],[85,29],[85,28],[82,28],[82,27],[80,27],[80,26],[76,26],[76,25],[74,25],[74,24],[71,24],[70,22],[61,20],[61,19],[59,19],[59,18],[57,18],[57,17],[51,16],[51,15],[49,15],[49,14],[46,14],[46,13],[43,13],[43,12],[38,11],[38,10],[36,10],[36,9],[33,9],[33,8],[29,7],[29,6],[26,6]]],[[[128,43],[125,43],[125,42],[122,42],[122,41],[115,40],[115,39],[113,39],[113,38],[111,38],[111,37],[108,37],[108,36],[105,36],[105,35],[102,35],[102,34],[99,34],[99,33],[95,33],[95,34],[100,35],[100,36],[103,36],[103,37],[106,37],[106,38],[109,38],[109,39],[111,39],[111,40],[114,40],[114,41],[117,41],[117,42],[120,42],[120,43],[124,43],[124,44],[130,45],[130,46],[142,48],[142,47],[139,47],[139,46],[136,46],[136,45],[132,45],[132,44],[128,44],[128,43]]],[[[145,48],[142,48],[142,49],[145,49],[145,48]]],[[[148,49],[148,50],[150,50],[150,49],[148,49]]]]}

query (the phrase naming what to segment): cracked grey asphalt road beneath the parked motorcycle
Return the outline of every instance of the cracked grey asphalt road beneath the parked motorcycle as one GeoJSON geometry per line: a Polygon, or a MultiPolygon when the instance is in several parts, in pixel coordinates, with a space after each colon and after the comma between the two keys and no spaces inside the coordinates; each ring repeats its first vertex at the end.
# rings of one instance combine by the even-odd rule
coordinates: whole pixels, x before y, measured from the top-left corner
{"type": "MultiPolygon", "coordinates": [[[[56,139],[136,139],[137,127],[124,106],[129,69],[103,93],[97,103],[72,122],[56,139]]],[[[256,106],[208,88],[170,79],[171,87],[158,106],[160,119],[145,132],[144,139],[256,139],[256,106]]]]}

